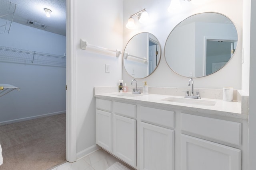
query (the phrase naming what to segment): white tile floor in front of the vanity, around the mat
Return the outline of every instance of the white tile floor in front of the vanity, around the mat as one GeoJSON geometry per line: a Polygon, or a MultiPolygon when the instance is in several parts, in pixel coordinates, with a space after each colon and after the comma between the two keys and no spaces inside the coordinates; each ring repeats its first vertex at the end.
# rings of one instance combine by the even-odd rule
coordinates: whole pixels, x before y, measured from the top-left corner
{"type": "Polygon", "coordinates": [[[60,166],[57,166],[56,168],[53,168],[52,170],[106,170],[117,161],[122,163],[127,168],[134,170],[133,168],[131,168],[121,160],[115,158],[103,149],[97,150],[96,152],[93,152],[88,156],[80,158],[76,162],[66,162],[60,166]]]}

